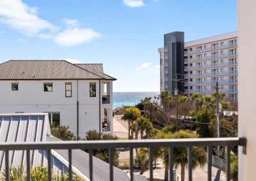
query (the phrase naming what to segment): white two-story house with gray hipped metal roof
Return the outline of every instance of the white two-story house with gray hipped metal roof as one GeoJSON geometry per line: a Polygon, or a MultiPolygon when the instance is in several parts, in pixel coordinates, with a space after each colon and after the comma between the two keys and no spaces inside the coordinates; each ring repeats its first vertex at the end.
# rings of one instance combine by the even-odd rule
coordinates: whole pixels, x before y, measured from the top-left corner
{"type": "Polygon", "coordinates": [[[0,113],[49,113],[77,136],[112,133],[113,81],[102,64],[7,61],[0,64],[0,113]]]}

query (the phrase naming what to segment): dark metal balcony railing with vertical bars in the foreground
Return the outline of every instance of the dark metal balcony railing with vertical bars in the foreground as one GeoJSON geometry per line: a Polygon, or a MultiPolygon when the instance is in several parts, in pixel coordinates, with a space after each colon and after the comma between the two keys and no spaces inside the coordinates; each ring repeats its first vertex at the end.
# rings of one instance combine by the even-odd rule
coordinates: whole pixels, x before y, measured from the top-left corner
{"type": "MultiPolygon", "coordinates": [[[[148,148],[148,161],[149,161],[149,175],[150,180],[154,179],[153,175],[153,154],[154,148],[166,147],[168,148],[168,166],[170,179],[173,181],[173,148],[186,147],[188,150],[188,180],[192,181],[192,161],[193,161],[193,147],[207,147],[207,178],[208,181],[212,180],[212,147],[225,146],[226,152],[226,168],[227,180],[230,180],[230,148],[233,145],[242,146],[243,152],[246,151],[246,138],[195,138],[195,139],[162,139],[162,140],[106,140],[106,141],[52,141],[52,142],[39,142],[39,143],[0,143],[0,149],[5,153],[5,171],[6,181],[10,180],[10,160],[9,155],[12,150],[26,150],[26,169],[28,170],[27,180],[30,180],[30,150],[47,150],[47,169],[48,180],[51,180],[51,150],[60,149],[68,150],[68,174],[69,180],[72,180],[72,150],[74,149],[87,149],[89,152],[89,166],[90,166],[90,180],[97,177],[93,174],[93,159],[92,152],[99,148],[109,149],[109,180],[114,180],[113,175],[113,149],[114,148],[129,148],[130,150],[130,174],[131,180],[134,180],[134,148],[148,148]]],[[[115,178],[118,180],[118,178],[115,178]]]]}

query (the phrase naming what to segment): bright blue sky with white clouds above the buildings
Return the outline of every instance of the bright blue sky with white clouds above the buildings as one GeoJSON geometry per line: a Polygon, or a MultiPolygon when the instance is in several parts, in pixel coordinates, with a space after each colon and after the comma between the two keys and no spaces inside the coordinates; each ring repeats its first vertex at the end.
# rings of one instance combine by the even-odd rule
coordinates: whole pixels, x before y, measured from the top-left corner
{"type": "Polygon", "coordinates": [[[185,40],[237,30],[236,0],[1,0],[0,62],[102,63],[113,91],[159,91],[163,34],[185,40]]]}

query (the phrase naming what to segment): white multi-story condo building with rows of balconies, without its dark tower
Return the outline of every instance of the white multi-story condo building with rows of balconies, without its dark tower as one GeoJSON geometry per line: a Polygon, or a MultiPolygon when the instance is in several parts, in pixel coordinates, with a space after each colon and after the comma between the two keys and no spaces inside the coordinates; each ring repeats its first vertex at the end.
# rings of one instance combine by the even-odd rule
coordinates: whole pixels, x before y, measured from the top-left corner
{"type": "MultiPolygon", "coordinates": [[[[158,50],[161,91],[170,90],[168,85],[175,82],[175,78],[166,76],[168,72],[165,69],[172,65],[164,59],[165,48],[158,50]]],[[[218,82],[220,91],[226,92],[231,101],[237,101],[237,32],[184,43],[184,78],[178,82],[184,82],[184,93],[189,95],[196,92],[209,95],[216,90],[214,86],[218,82]]],[[[178,89],[180,91],[179,86],[178,89]]]]}

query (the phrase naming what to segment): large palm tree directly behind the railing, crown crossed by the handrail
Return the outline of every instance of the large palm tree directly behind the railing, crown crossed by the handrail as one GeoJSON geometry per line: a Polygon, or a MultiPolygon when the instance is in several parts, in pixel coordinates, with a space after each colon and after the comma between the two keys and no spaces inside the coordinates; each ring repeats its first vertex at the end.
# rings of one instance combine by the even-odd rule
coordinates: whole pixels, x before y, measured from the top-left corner
{"type": "MultiPolygon", "coordinates": [[[[165,138],[177,139],[177,138],[197,138],[198,136],[192,131],[183,131],[175,132],[173,134],[166,134],[165,138]]],[[[193,147],[192,148],[192,168],[195,170],[198,166],[203,167],[206,163],[206,154],[204,147],[193,147]]],[[[184,181],[185,178],[185,168],[188,165],[188,150],[187,147],[179,147],[173,149],[173,163],[175,169],[179,166],[181,181],[184,181]]],[[[164,164],[168,170],[168,149],[164,148],[164,164]]],[[[168,171],[165,172],[164,180],[168,180],[168,171]],[[167,174],[167,175],[166,175],[167,174]]]]}

